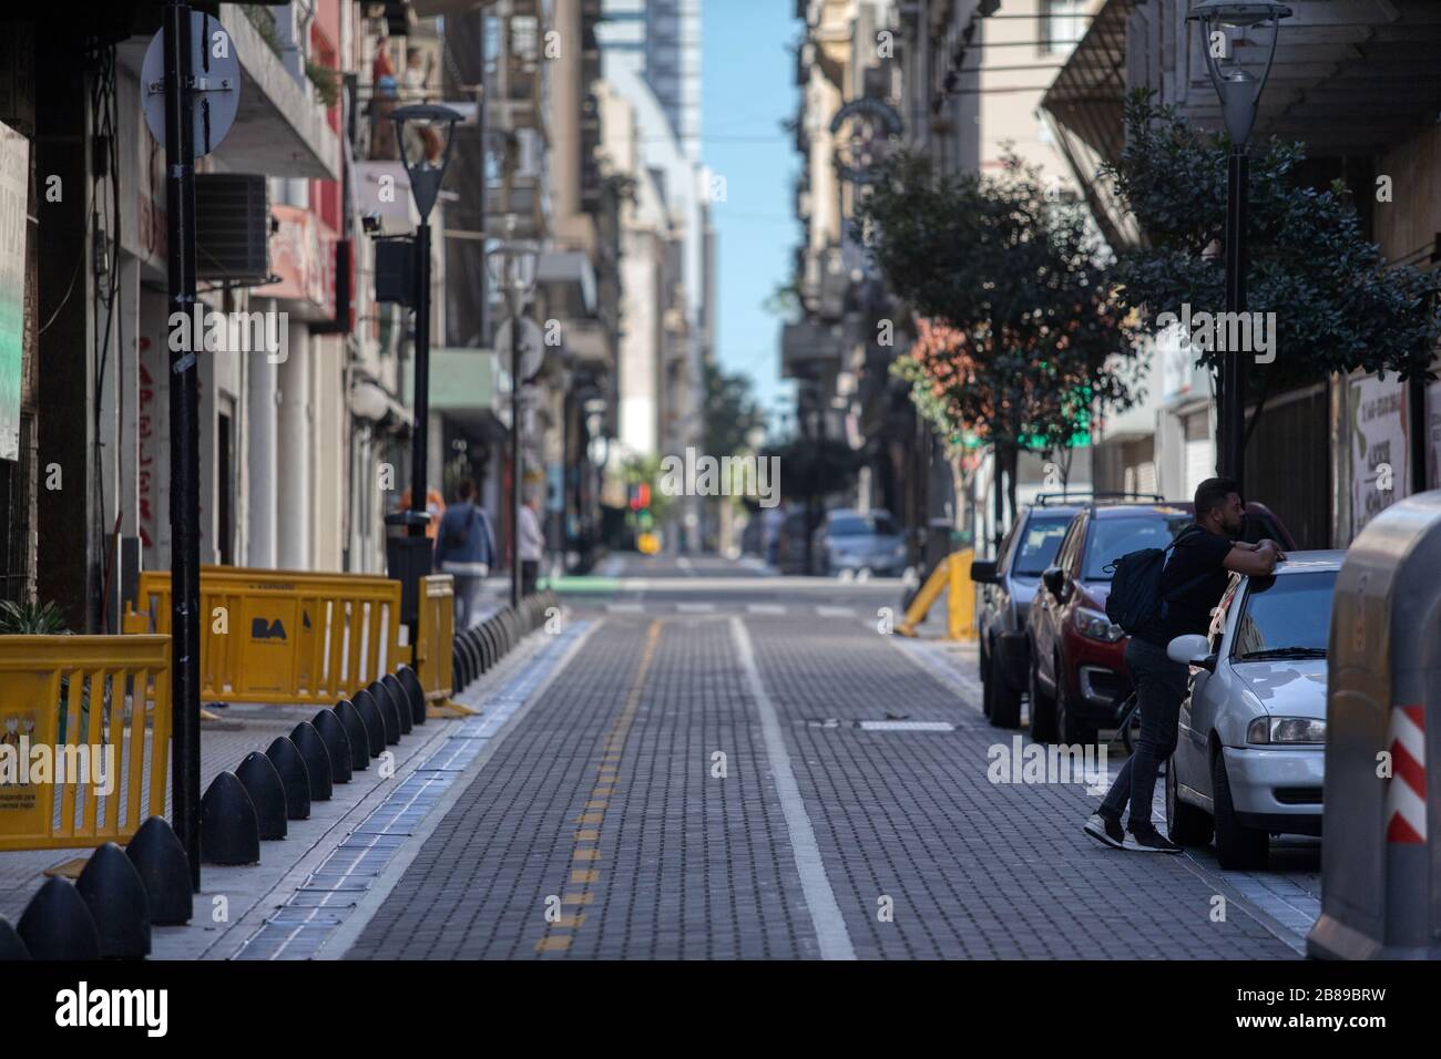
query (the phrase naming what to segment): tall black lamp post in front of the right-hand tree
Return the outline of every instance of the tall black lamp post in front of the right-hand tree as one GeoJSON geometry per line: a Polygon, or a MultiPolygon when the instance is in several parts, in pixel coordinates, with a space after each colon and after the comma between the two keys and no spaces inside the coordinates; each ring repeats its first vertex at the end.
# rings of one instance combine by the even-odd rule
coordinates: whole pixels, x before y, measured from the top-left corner
{"type": "MultiPolygon", "coordinates": [[[[1261,92],[1271,76],[1281,19],[1291,9],[1280,0],[1202,0],[1187,16],[1202,27],[1202,52],[1210,84],[1221,97],[1221,117],[1231,137],[1231,163],[1226,176],[1226,313],[1246,311],[1246,225],[1251,186],[1251,160],[1246,143],[1255,127],[1261,92]],[[1246,37],[1252,30],[1268,32],[1271,40],[1265,63],[1255,72],[1241,61],[1241,45],[1255,45],[1246,37]]],[[[1257,63],[1251,63],[1257,66],[1257,63]]],[[[1232,317],[1233,318],[1233,317],[1232,317]]],[[[1236,344],[1236,343],[1232,343],[1236,344]]],[[[1218,471],[1244,486],[1246,375],[1249,365],[1239,349],[1226,349],[1222,357],[1218,399],[1221,405],[1221,445],[1218,471]]]]}

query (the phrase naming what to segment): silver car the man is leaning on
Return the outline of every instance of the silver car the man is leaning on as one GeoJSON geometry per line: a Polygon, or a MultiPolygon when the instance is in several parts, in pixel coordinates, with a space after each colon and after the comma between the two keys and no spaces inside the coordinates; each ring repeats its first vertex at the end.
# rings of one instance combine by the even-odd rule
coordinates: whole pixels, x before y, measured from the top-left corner
{"type": "Polygon", "coordinates": [[[1268,576],[1232,575],[1209,635],[1167,654],[1193,669],[1166,768],[1172,841],[1216,837],[1222,867],[1264,867],[1272,834],[1321,833],[1326,644],[1344,552],[1291,552],[1268,576]]]}

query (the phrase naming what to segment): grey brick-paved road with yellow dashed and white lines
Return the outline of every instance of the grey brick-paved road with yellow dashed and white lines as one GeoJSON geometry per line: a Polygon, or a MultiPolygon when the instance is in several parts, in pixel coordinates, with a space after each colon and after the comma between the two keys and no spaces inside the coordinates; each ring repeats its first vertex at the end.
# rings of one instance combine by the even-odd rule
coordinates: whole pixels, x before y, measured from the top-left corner
{"type": "Polygon", "coordinates": [[[1087,840],[1081,787],[991,784],[1009,733],[867,605],[595,604],[349,958],[1295,955],[1182,859],[1087,840]],[[857,728],[888,718],[954,729],[857,728]]]}

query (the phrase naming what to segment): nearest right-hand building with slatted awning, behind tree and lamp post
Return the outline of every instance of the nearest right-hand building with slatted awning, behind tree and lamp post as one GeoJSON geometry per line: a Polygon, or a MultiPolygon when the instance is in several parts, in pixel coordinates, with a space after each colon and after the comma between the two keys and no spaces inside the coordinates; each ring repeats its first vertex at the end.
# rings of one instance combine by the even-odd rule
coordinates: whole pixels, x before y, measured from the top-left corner
{"type": "MultiPolygon", "coordinates": [[[[1115,161],[1124,146],[1125,94],[1148,88],[1200,125],[1221,127],[1200,32],[1186,20],[1189,7],[1097,4],[1043,99],[1074,179],[1117,249],[1143,238],[1098,179],[1098,167],[1115,161]]],[[[1366,238],[1388,262],[1435,267],[1441,206],[1418,189],[1435,187],[1441,164],[1441,10],[1425,0],[1334,0],[1293,10],[1277,37],[1252,140],[1303,141],[1303,182],[1320,187],[1342,180],[1366,238]],[[1378,195],[1380,177],[1411,192],[1386,200],[1378,195]]],[[[1183,499],[1213,473],[1212,379],[1174,334],[1156,336],[1151,356],[1147,402],[1102,425],[1099,448],[1117,439],[1124,452],[1098,481],[1153,481],[1164,496],[1183,499]]],[[[1246,447],[1245,474],[1248,491],[1264,499],[1303,546],[1344,548],[1386,504],[1441,484],[1441,385],[1404,385],[1393,375],[1362,372],[1298,382],[1268,396],[1246,447]],[[1375,460],[1379,451],[1393,454],[1391,490],[1372,487],[1368,452],[1375,460]],[[1317,460],[1316,452],[1330,458],[1317,460]]],[[[1254,406],[1249,415],[1257,415],[1254,406]]]]}

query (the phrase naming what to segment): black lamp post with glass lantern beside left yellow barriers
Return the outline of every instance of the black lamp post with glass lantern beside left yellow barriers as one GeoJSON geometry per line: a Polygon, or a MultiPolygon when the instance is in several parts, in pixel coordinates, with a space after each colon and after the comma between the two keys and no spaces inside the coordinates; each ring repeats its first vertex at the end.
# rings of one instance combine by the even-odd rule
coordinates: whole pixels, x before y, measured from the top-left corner
{"type": "MultiPolygon", "coordinates": [[[[431,419],[431,210],[435,199],[440,197],[441,180],[445,179],[445,167],[450,164],[451,144],[455,138],[455,122],[461,115],[450,107],[438,104],[412,104],[395,110],[391,117],[395,120],[395,140],[401,148],[401,164],[411,180],[411,195],[415,196],[415,209],[421,215],[419,228],[415,231],[415,256],[411,274],[415,280],[415,386],[411,398],[415,421],[411,432],[411,507],[408,511],[396,511],[386,516],[386,523],[406,527],[409,540],[395,540],[391,562],[391,576],[402,585],[401,609],[403,620],[414,628],[419,605],[419,579],[431,572],[431,549],[425,539],[425,529],[429,524],[425,497],[427,487],[427,451],[429,439],[431,419]],[[411,160],[405,146],[406,125],[415,122],[421,128],[434,130],[445,125],[445,147],[441,157],[434,160],[429,153],[411,160]]],[[[414,647],[415,637],[411,637],[414,647]]]]}

